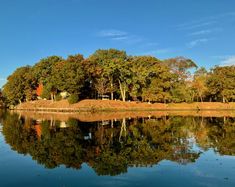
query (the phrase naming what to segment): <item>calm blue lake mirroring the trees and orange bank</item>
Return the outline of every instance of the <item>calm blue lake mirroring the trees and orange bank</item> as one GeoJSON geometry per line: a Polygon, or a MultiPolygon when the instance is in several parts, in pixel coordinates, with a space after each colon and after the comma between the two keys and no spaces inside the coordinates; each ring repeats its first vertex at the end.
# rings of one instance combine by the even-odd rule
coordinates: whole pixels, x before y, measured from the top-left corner
{"type": "Polygon", "coordinates": [[[0,111],[0,182],[1,187],[234,187],[235,117],[0,111]]]}

